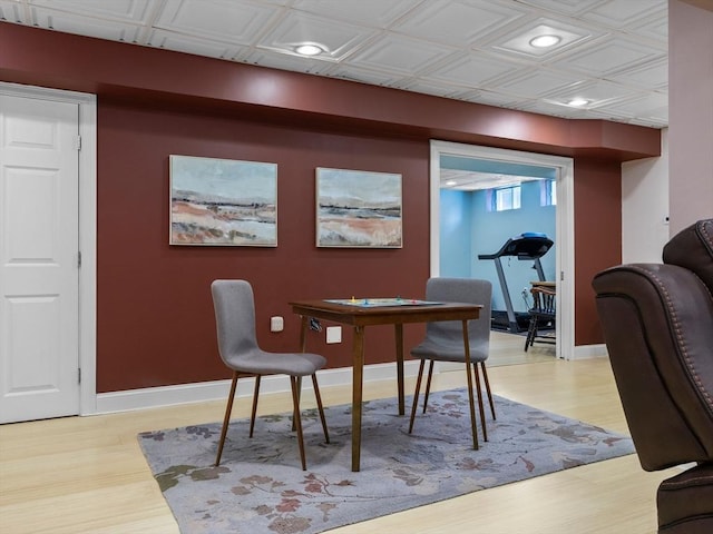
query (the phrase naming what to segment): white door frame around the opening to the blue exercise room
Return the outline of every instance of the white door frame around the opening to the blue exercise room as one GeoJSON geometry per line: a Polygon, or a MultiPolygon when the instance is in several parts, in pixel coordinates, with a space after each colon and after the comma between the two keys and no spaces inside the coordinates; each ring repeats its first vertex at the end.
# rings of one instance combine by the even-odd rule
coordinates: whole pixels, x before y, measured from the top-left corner
{"type": "Polygon", "coordinates": [[[574,345],[574,159],[536,152],[431,140],[430,142],[431,276],[440,275],[440,159],[441,155],[550,167],[556,170],[557,208],[555,248],[557,273],[556,356],[573,359],[574,345]]]}

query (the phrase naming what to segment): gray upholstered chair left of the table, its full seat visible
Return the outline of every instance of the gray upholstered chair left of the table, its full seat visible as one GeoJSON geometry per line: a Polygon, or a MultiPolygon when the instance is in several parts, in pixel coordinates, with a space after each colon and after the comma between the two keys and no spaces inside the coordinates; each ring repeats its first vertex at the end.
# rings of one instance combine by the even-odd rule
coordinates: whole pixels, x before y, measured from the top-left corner
{"type": "Polygon", "coordinates": [[[250,437],[253,437],[261,377],[282,374],[290,377],[294,407],[293,421],[297,431],[300,459],[302,461],[302,469],[306,469],[302,419],[300,416],[300,389],[302,377],[311,376],[320,418],[322,419],[322,428],[324,429],[324,439],[329,443],[326,419],[324,418],[324,408],[322,407],[322,398],[316,382],[316,372],[324,367],[326,359],[318,354],[267,353],[262,350],[257,346],[255,336],[255,303],[250,283],[245,280],[215,280],[211,285],[211,291],[215,307],[218,352],[223,363],[233,370],[233,383],[225,408],[225,418],[223,419],[223,431],[221,432],[215,465],[217,466],[221,463],[223,445],[225,444],[225,436],[231,422],[237,379],[243,376],[255,376],[253,409],[250,422],[250,437]]]}

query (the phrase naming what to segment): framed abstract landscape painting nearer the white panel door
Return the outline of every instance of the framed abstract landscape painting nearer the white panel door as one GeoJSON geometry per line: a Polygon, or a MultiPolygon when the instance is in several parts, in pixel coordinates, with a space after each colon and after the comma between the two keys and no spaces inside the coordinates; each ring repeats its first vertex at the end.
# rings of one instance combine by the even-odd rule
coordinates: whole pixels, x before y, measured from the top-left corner
{"type": "Polygon", "coordinates": [[[169,157],[170,245],[277,246],[277,165],[169,157]]]}

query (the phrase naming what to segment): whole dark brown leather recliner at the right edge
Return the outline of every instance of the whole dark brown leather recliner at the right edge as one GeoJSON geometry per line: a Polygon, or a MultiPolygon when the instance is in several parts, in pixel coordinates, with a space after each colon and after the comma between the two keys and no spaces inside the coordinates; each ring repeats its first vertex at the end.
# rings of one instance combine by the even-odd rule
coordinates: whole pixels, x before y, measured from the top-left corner
{"type": "Polygon", "coordinates": [[[642,467],[682,466],[658,487],[658,532],[713,533],[713,219],[673,237],[663,264],[613,267],[593,287],[642,467]]]}

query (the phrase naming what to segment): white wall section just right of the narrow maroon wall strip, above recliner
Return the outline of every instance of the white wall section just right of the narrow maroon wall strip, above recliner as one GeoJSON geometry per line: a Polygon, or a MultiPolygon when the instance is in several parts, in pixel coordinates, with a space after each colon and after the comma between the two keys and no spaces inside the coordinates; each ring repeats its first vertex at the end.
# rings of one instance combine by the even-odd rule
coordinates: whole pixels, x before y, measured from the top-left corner
{"type": "Polygon", "coordinates": [[[668,130],[660,158],[622,164],[622,261],[660,263],[668,241],[668,130]]]}

